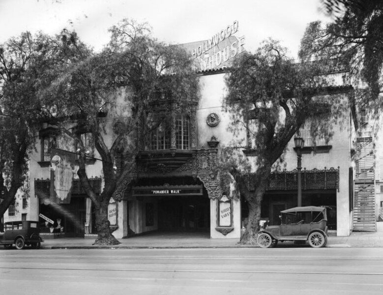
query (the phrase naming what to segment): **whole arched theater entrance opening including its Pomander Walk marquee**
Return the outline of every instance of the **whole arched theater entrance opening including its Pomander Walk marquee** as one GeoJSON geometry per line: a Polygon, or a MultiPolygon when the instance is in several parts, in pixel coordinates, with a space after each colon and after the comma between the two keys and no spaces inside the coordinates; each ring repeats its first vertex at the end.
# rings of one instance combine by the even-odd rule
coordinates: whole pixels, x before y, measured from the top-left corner
{"type": "Polygon", "coordinates": [[[202,181],[193,177],[138,179],[127,204],[135,234],[210,231],[210,199],[202,181]]]}

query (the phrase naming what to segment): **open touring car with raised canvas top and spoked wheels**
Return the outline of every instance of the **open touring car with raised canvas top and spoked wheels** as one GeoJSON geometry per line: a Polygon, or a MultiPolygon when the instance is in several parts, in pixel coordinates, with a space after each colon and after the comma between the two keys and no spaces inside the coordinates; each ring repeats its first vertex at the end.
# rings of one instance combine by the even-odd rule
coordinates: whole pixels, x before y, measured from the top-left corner
{"type": "Polygon", "coordinates": [[[278,241],[308,241],[314,248],[327,243],[327,216],[324,207],[295,207],[281,211],[281,225],[260,230],[257,242],[262,248],[275,247],[278,241]]]}

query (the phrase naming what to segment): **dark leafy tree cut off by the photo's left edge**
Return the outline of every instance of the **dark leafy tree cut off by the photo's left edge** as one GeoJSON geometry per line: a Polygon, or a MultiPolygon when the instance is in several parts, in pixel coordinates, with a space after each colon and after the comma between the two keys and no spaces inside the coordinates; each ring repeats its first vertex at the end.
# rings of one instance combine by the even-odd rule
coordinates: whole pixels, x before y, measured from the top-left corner
{"type": "Polygon", "coordinates": [[[16,193],[28,193],[28,154],[34,146],[39,109],[35,60],[43,35],[29,32],[0,45],[0,190],[2,215],[16,193]],[[21,189],[21,190],[19,190],[21,189]]]}

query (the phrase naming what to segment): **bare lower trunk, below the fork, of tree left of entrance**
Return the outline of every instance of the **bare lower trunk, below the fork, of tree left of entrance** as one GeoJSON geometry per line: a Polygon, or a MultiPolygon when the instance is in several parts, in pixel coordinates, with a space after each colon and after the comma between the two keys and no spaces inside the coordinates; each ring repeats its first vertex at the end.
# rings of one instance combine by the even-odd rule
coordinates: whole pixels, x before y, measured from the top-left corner
{"type": "Polygon", "coordinates": [[[109,228],[108,203],[100,202],[100,207],[96,209],[96,227],[98,237],[93,245],[118,245],[120,242],[112,235],[109,228]]]}

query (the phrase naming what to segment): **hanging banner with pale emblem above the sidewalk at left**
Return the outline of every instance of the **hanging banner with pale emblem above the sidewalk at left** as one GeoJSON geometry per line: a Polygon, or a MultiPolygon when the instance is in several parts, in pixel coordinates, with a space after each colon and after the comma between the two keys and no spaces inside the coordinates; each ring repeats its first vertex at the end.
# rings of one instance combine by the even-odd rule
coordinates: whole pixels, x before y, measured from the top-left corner
{"type": "Polygon", "coordinates": [[[75,153],[51,148],[51,201],[57,204],[70,203],[75,161],[75,153]]]}

